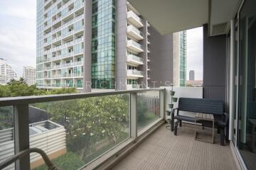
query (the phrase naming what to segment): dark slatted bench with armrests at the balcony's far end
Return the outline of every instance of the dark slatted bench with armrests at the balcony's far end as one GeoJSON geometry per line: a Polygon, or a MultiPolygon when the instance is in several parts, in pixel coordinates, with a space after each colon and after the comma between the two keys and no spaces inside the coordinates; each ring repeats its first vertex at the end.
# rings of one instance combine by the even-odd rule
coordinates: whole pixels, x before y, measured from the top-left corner
{"type": "MultiPolygon", "coordinates": [[[[193,116],[179,115],[179,111],[213,114],[215,128],[218,128],[218,132],[220,132],[220,145],[224,145],[225,137],[228,141],[228,114],[224,113],[223,101],[208,98],[179,98],[178,108],[174,108],[171,112],[171,131],[174,131],[174,135],[177,135],[178,124],[181,127],[182,121],[195,122],[193,116]]],[[[203,127],[212,127],[208,121],[200,123],[203,127]]]]}

